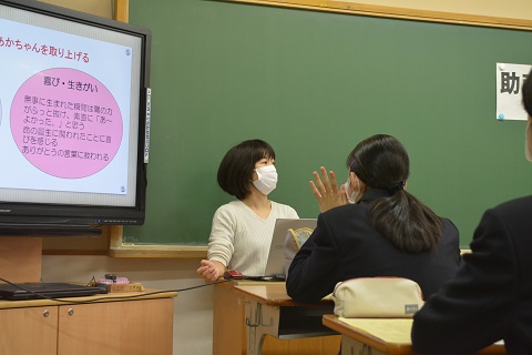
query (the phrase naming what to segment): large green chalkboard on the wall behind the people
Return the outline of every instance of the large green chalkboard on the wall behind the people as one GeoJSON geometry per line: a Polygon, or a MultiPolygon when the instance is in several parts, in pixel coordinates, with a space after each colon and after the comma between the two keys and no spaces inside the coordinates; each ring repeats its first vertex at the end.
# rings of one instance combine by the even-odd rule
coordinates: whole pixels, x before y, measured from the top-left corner
{"type": "Polygon", "coordinates": [[[123,242],[206,245],[232,200],[216,184],[228,148],[276,150],[272,200],[316,217],[308,181],[375,133],[411,159],[408,189],[468,247],[482,212],[530,193],[523,121],[495,120],[495,63],[532,63],[531,31],[204,0],[131,1],[153,31],[147,213],[123,242]]]}

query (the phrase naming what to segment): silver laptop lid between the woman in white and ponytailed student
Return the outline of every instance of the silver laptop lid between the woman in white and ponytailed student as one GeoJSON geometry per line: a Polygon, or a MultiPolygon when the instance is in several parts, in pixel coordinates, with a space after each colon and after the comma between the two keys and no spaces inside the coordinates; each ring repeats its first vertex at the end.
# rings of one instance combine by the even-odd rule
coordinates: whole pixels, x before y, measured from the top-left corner
{"type": "Polygon", "coordinates": [[[278,219],[275,222],[265,276],[287,274],[289,264],[294,257],[294,255],[291,255],[291,257],[287,258],[285,255],[287,236],[304,235],[304,237],[308,237],[316,227],[316,219],[278,219]]]}

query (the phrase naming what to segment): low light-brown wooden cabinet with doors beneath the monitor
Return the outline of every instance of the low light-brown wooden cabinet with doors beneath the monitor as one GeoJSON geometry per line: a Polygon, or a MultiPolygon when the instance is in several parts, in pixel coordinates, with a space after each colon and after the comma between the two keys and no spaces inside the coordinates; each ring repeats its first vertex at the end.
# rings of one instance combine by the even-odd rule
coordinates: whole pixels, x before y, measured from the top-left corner
{"type": "Polygon", "coordinates": [[[0,352],[10,355],[171,355],[175,292],[0,301],[0,352]],[[140,295],[133,298],[113,298],[140,295]],[[95,301],[95,298],[102,298],[95,301]],[[79,302],[86,302],[78,304],[79,302]]]}

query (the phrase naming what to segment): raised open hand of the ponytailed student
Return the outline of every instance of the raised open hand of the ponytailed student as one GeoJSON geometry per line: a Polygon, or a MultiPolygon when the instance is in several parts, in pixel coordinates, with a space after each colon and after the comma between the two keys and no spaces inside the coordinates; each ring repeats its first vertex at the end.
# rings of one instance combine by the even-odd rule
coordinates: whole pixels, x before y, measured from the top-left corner
{"type": "Polygon", "coordinates": [[[334,171],[327,175],[327,170],[324,166],[319,169],[321,178],[318,172],[313,172],[314,181],[310,181],[310,190],[313,190],[316,200],[318,200],[319,211],[325,212],[330,209],[347,204],[346,187],[344,185],[338,189],[338,182],[334,171]]]}

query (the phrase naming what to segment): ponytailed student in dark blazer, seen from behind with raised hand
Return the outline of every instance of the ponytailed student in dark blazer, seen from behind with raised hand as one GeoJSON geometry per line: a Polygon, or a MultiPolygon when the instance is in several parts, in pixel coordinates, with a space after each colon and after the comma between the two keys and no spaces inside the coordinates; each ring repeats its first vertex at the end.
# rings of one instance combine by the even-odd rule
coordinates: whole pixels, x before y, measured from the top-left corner
{"type": "Polygon", "coordinates": [[[406,191],[405,146],[390,135],[370,136],[349,154],[347,168],[340,189],[334,172],[330,181],[325,168],[321,179],[314,172],[323,213],[288,270],[288,295],[317,302],[338,282],[370,276],[410,278],[424,296],[433,294],[458,268],[459,233],[406,191]]]}

